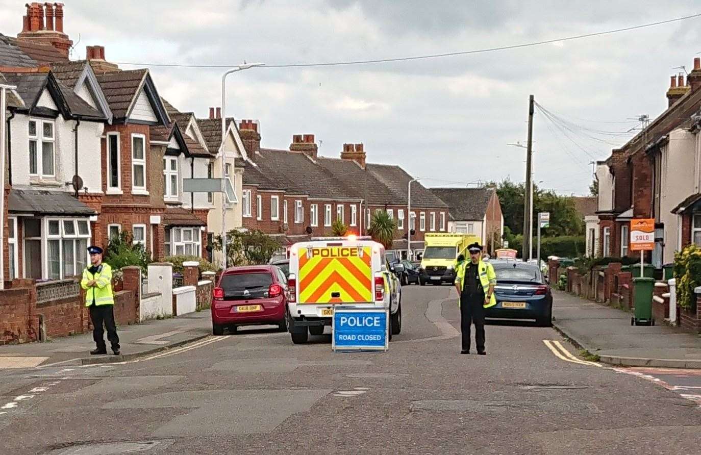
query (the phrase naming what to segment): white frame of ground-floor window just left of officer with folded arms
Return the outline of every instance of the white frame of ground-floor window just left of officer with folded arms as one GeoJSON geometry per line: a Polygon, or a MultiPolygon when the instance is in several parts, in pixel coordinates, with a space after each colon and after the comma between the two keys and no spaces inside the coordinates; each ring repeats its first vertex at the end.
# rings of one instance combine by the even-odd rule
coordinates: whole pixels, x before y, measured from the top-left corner
{"type": "Polygon", "coordinates": [[[45,236],[42,238],[42,243],[43,247],[42,250],[46,252],[46,256],[42,258],[43,264],[42,270],[45,271],[42,273],[46,278],[49,278],[50,280],[63,280],[66,278],[65,275],[65,270],[64,270],[64,241],[70,241],[73,240],[73,268],[75,271],[76,275],[80,275],[82,269],[79,269],[79,263],[78,263],[78,257],[80,254],[81,248],[78,247],[78,241],[79,240],[85,240],[85,248],[83,249],[84,256],[83,258],[85,261],[83,264],[90,264],[90,256],[88,255],[88,247],[91,245],[90,239],[91,239],[91,232],[90,232],[90,222],[86,218],[67,218],[67,217],[54,217],[54,218],[44,218],[43,219],[43,233],[46,233],[45,236]],[[51,234],[49,233],[49,224],[51,222],[58,222],[58,233],[57,234],[51,234]],[[87,227],[87,233],[80,233],[80,228],[79,228],[79,222],[84,222],[87,227]],[[66,233],[65,230],[65,224],[64,223],[72,223],[73,224],[73,230],[74,233],[66,233]],[[50,241],[58,241],[58,262],[59,262],[59,276],[58,277],[51,277],[50,276],[50,266],[49,266],[49,242],[50,241]]]}

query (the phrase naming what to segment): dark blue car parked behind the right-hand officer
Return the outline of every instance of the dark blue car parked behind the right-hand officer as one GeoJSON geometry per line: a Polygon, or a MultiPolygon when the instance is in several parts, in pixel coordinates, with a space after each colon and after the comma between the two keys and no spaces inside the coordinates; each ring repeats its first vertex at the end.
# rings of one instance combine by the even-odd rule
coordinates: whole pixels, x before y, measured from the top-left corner
{"type": "Polygon", "coordinates": [[[536,264],[513,259],[492,259],[496,272],[496,306],[486,308],[487,318],[535,319],[552,325],[552,293],[536,264]]]}

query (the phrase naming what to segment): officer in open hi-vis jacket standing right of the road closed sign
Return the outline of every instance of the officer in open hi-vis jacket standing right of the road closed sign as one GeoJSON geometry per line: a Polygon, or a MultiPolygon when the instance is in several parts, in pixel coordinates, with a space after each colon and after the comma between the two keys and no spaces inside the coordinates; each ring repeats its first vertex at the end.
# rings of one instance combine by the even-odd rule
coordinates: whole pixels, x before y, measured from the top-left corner
{"type": "Polygon", "coordinates": [[[482,261],[482,247],[479,243],[468,245],[468,251],[470,260],[458,265],[455,278],[455,287],[460,296],[460,330],[463,334],[460,353],[470,353],[470,326],[474,323],[477,353],[485,355],[484,308],[496,305],[496,273],[494,266],[482,261]]]}

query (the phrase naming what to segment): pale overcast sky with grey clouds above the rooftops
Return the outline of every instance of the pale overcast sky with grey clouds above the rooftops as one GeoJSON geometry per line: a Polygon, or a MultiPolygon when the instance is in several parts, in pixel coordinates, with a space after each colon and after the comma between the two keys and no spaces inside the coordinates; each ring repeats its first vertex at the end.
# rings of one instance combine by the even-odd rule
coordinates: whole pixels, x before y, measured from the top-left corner
{"type": "MultiPolygon", "coordinates": [[[[701,1],[306,0],[118,3],[66,0],[64,31],[113,62],[268,64],[367,60],[558,39],[701,13],[701,1]],[[114,5],[118,4],[118,8],[114,5]],[[566,5],[565,5],[566,4],[566,5]]],[[[0,0],[0,32],[25,1],[0,0]]],[[[260,68],[229,76],[226,113],[260,121],[263,147],[312,133],[320,154],[363,142],[369,161],[402,165],[427,186],[524,179],[528,97],[536,182],[585,194],[590,161],[625,143],[634,118],[667,107],[669,76],[701,52],[701,18],[531,48],[349,67],[260,68]],[[606,132],[606,133],[604,133],[606,132]],[[461,182],[461,183],[458,183],[461,182]]],[[[120,64],[123,69],[136,66],[120,64]]],[[[207,116],[222,69],[151,67],[161,95],[207,116]]]]}

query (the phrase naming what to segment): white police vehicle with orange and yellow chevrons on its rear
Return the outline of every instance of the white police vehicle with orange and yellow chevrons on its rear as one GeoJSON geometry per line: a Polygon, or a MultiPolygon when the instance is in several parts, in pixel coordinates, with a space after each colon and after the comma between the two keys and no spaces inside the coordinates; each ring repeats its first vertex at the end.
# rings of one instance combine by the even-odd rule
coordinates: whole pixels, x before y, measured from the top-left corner
{"type": "Polygon", "coordinates": [[[334,308],[386,308],[388,337],[402,330],[402,288],[384,247],[369,237],[323,237],[290,248],[287,327],[294,344],[332,325],[334,308]]]}

